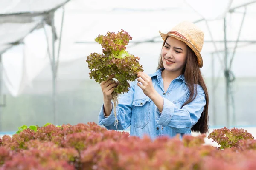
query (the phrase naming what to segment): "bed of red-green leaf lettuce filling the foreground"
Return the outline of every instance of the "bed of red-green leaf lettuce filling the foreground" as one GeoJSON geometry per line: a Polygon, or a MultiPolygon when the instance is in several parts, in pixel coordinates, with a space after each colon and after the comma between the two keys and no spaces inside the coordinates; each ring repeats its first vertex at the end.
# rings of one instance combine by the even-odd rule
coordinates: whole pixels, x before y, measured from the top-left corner
{"type": "Polygon", "coordinates": [[[96,123],[20,127],[0,139],[0,170],[255,170],[256,140],[243,129],[152,141],[96,123]]]}

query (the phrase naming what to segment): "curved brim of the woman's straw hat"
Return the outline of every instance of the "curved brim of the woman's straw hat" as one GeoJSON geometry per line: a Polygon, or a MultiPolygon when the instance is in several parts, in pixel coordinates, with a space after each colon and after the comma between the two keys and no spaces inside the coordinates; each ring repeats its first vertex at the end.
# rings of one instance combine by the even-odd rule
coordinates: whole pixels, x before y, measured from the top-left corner
{"type": "Polygon", "coordinates": [[[194,51],[194,53],[195,53],[195,55],[196,55],[196,57],[197,57],[197,61],[198,61],[198,66],[199,66],[199,68],[202,68],[202,67],[203,67],[203,59],[202,59],[202,56],[201,56],[200,51],[199,51],[193,44],[191,44],[188,40],[186,40],[186,39],[184,39],[184,38],[182,38],[182,37],[179,37],[179,36],[177,36],[177,35],[174,35],[174,34],[165,34],[165,33],[162,33],[161,31],[159,31],[159,33],[160,33],[161,37],[163,38],[163,40],[166,40],[166,38],[167,38],[168,36],[170,36],[170,37],[174,37],[174,38],[176,38],[177,40],[180,40],[180,41],[184,42],[186,45],[188,45],[189,48],[191,48],[192,51],[194,51]]]}

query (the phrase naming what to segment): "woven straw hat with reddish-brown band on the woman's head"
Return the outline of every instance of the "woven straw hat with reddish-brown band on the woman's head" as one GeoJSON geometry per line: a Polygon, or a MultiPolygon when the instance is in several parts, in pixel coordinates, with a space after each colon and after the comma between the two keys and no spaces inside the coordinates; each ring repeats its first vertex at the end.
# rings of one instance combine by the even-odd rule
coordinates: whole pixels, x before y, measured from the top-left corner
{"type": "Polygon", "coordinates": [[[183,21],[172,28],[167,34],[161,33],[161,31],[159,33],[163,40],[170,36],[183,41],[195,52],[199,68],[203,67],[203,59],[200,52],[204,44],[204,32],[195,24],[183,21]]]}

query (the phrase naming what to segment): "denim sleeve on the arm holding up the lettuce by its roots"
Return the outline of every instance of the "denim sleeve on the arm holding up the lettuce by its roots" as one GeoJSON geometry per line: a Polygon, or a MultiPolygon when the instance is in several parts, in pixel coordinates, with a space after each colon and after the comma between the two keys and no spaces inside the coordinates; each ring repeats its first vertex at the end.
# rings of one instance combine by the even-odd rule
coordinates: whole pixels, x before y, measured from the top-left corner
{"type": "Polygon", "coordinates": [[[127,93],[124,93],[118,99],[118,105],[116,107],[116,116],[118,120],[117,127],[114,125],[114,103],[112,102],[112,111],[108,117],[104,115],[104,104],[102,105],[99,112],[99,125],[105,126],[108,130],[124,130],[131,125],[131,112],[132,112],[132,101],[134,96],[134,83],[130,83],[130,88],[127,93]]]}

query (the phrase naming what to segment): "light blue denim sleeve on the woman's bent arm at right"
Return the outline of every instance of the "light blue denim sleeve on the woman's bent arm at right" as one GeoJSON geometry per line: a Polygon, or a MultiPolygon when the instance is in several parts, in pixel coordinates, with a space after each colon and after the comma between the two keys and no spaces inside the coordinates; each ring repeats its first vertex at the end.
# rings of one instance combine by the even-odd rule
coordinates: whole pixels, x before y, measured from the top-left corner
{"type": "Polygon", "coordinates": [[[205,104],[205,93],[200,85],[197,85],[195,99],[183,106],[183,108],[178,108],[173,102],[164,98],[162,113],[157,109],[157,112],[160,114],[157,124],[169,126],[179,133],[184,133],[198,122],[205,104]]]}

